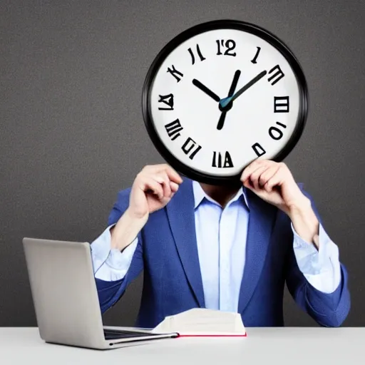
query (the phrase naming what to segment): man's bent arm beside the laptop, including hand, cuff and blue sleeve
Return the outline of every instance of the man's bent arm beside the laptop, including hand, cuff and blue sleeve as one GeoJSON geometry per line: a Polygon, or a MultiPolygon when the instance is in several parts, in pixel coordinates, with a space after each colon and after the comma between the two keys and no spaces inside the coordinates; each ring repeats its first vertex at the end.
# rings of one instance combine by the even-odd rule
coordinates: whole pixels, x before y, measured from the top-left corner
{"type": "Polygon", "coordinates": [[[128,284],[142,272],[142,228],[150,213],[170,202],[182,182],[170,166],[149,165],[138,173],[131,188],[119,192],[108,219],[110,236],[105,232],[92,247],[102,313],[120,299],[128,284]]]}

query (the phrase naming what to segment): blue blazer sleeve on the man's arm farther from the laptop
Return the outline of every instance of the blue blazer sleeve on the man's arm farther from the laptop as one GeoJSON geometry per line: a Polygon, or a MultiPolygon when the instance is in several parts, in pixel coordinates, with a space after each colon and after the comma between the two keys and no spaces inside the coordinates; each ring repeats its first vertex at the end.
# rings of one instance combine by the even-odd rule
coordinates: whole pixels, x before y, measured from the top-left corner
{"type": "MultiPolygon", "coordinates": [[[[302,189],[302,185],[299,185],[302,189]]],[[[302,190],[312,203],[312,209],[317,215],[317,219],[322,224],[317,207],[308,192],[302,190]]],[[[289,217],[286,216],[287,223],[291,227],[289,217]]],[[[290,230],[291,231],[291,230],[290,230]]],[[[286,230],[289,235],[289,250],[287,252],[286,282],[290,294],[294,301],[307,312],[322,327],[339,327],[349,314],[351,300],[348,288],[348,274],[344,264],[341,266],[341,281],[339,286],[331,293],[320,292],[314,288],[299,270],[297,259],[294,255],[293,235],[286,230]]]]}

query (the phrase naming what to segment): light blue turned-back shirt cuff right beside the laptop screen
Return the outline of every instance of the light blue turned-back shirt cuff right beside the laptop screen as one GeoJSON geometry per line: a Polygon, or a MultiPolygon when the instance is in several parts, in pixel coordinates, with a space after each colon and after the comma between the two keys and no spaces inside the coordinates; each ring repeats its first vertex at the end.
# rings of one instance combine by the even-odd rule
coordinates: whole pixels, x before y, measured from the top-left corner
{"type": "Polygon", "coordinates": [[[135,237],[135,240],[128,247],[125,247],[123,252],[117,249],[110,250],[110,228],[114,225],[108,226],[91,244],[94,275],[97,279],[108,282],[125,277],[138,244],[138,237],[135,237]]]}

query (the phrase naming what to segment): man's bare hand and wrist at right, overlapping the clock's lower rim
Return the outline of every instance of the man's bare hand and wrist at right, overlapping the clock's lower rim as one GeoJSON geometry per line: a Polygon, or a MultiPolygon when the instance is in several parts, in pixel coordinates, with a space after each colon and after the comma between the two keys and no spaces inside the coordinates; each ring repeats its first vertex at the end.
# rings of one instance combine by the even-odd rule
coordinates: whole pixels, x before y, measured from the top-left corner
{"type": "Polygon", "coordinates": [[[299,189],[287,165],[270,160],[255,160],[245,168],[241,181],[262,200],[289,215],[297,234],[318,247],[317,216],[309,198],[299,189]]]}

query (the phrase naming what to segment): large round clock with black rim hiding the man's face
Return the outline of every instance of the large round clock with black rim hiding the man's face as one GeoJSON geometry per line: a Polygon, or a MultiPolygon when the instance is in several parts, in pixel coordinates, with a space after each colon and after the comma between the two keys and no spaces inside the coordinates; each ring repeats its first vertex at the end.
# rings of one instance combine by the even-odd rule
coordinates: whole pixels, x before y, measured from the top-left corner
{"type": "Polygon", "coordinates": [[[257,158],[282,160],[307,116],[302,69],[252,24],[214,21],[159,53],[143,90],[145,125],[173,168],[200,182],[240,178],[257,158]]]}

